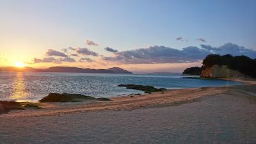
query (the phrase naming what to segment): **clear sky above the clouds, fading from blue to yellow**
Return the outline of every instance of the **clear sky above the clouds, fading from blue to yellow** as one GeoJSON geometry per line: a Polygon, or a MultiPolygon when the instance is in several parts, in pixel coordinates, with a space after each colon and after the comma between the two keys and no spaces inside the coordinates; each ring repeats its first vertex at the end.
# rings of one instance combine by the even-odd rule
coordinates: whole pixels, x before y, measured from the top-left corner
{"type": "Polygon", "coordinates": [[[106,56],[111,53],[104,47],[127,51],[150,45],[182,49],[232,42],[256,50],[255,7],[254,0],[0,0],[0,50],[22,61],[28,61],[27,54],[37,58],[47,49],[66,47],[88,47],[106,56]],[[84,40],[99,46],[86,46],[84,40]]]}

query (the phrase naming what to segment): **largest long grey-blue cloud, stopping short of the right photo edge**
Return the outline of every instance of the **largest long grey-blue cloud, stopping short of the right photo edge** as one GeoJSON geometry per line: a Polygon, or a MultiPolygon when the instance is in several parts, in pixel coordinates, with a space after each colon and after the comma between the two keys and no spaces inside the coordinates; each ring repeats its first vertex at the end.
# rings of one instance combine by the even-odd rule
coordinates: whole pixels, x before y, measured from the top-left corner
{"type": "Polygon", "coordinates": [[[152,46],[131,51],[116,52],[113,57],[104,57],[107,61],[120,63],[184,63],[202,60],[209,54],[204,49],[186,47],[182,50],[164,46],[152,46]]]}

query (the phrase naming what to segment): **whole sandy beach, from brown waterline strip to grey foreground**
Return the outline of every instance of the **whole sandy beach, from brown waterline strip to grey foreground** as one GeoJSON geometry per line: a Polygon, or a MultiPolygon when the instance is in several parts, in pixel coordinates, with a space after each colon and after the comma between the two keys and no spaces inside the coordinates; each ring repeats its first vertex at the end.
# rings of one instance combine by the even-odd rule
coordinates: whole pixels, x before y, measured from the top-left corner
{"type": "Polygon", "coordinates": [[[256,143],[256,83],[110,102],[42,103],[0,115],[0,143],[256,143]]]}

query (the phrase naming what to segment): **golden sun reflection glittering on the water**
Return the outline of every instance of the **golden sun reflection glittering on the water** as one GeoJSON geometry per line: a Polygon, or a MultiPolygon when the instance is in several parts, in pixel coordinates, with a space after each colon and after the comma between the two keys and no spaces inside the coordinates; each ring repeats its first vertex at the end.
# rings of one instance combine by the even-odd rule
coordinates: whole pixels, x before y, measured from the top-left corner
{"type": "Polygon", "coordinates": [[[13,100],[26,99],[26,86],[24,83],[24,76],[22,72],[16,73],[12,92],[13,93],[10,96],[11,99],[13,100]]]}

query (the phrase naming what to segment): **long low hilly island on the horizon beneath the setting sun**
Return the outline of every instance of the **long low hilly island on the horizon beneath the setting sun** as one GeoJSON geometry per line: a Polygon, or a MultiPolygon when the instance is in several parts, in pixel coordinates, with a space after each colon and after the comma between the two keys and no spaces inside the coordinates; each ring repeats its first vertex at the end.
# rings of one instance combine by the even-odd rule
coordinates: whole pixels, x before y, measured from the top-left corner
{"type": "Polygon", "coordinates": [[[5,72],[76,72],[76,73],[107,73],[107,74],[132,74],[127,70],[119,67],[108,69],[93,69],[79,67],[49,67],[49,68],[32,68],[32,67],[1,67],[0,71],[5,72]]]}

